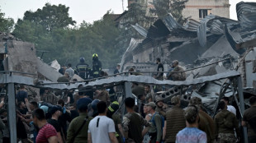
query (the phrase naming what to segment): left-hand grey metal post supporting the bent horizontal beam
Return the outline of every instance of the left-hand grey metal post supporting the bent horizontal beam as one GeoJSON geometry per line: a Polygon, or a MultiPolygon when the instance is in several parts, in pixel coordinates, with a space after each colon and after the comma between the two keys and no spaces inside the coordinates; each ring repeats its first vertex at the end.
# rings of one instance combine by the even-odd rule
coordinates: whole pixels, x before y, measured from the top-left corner
{"type": "Polygon", "coordinates": [[[17,123],[16,123],[16,108],[15,108],[15,91],[14,84],[8,84],[8,124],[10,129],[11,143],[17,143],[17,123]]]}

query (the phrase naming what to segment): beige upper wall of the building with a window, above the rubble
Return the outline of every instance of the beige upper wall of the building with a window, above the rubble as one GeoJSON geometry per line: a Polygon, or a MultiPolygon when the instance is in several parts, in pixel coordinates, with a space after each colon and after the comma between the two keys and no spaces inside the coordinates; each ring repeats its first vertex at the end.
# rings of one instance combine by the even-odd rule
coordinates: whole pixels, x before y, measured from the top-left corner
{"type": "Polygon", "coordinates": [[[183,16],[191,16],[192,19],[200,21],[199,10],[208,9],[213,15],[230,18],[229,3],[229,0],[189,0],[183,10],[183,16]]]}

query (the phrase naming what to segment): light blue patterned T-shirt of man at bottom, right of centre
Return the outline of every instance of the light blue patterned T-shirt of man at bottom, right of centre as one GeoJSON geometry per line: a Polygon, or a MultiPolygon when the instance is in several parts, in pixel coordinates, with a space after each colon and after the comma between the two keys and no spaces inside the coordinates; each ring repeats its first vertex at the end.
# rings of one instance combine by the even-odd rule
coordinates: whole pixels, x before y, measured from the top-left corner
{"type": "Polygon", "coordinates": [[[178,131],[176,143],[206,143],[206,132],[199,130],[197,127],[185,127],[178,131]]]}

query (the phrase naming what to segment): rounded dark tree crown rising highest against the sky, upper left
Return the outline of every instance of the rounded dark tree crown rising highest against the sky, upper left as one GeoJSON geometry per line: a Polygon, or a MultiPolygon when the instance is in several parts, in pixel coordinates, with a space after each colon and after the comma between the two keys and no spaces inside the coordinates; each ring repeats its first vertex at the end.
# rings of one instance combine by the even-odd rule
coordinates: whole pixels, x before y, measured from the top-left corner
{"type": "Polygon", "coordinates": [[[23,21],[42,25],[48,31],[53,30],[53,28],[66,28],[76,23],[72,17],[69,17],[69,7],[62,4],[59,6],[50,5],[50,3],[46,3],[45,7],[37,9],[36,12],[26,11],[23,21]]]}

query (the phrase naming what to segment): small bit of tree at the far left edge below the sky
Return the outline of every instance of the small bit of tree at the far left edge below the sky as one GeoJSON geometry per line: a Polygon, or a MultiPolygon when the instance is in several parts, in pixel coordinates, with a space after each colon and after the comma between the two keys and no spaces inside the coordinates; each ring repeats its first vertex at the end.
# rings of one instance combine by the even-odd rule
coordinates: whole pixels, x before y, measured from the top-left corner
{"type": "Polygon", "coordinates": [[[0,10],[0,31],[9,33],[12,31],[14,21],[12,18],[4,18],[4,15],[0,10]]]}

